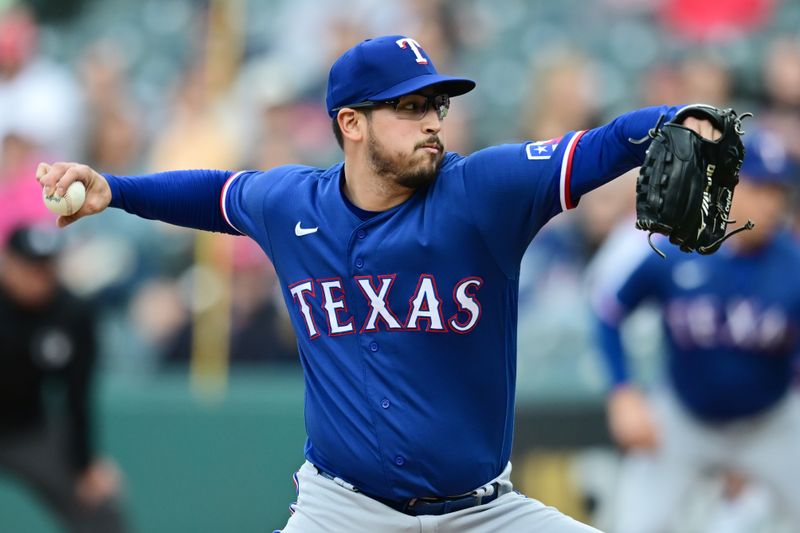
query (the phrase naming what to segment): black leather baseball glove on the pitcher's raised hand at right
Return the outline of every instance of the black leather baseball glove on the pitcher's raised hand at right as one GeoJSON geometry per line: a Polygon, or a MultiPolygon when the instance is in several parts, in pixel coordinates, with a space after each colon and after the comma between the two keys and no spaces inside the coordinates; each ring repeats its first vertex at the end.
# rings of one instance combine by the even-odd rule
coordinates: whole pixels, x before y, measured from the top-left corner
{"type": "Polygon", "coordinates": [[[710,254],[731,235],[753,228],[748,220],[725,234],[735,222],[729,215],[744,160],[742,119],[748,116],[752,114],[690,105],[666,124],[662,116],[648,133],[652,142],[636,182],[636,227],[650,232],[650,246],[662,257],[650,239],[653,233],[667,235],[684,252],[710,254]],[[701,137],[681,125],[687,117],[710,121],[722,136],[716,141],[701,137]]]}

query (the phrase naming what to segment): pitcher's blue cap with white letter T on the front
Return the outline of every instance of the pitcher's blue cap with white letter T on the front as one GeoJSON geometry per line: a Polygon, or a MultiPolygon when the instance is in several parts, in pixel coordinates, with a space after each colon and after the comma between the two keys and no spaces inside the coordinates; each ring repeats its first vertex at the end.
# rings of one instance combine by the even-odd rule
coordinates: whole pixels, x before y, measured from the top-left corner
{"type": "Polygon", "coordinates": [[[367,39],[336,60],[328,76],[326,104],[333,118],[341,107],[391,100],[437,85],[450,96],[467,93],[475,82],[442,76],[422,46],[403,35],[367,39]]]}

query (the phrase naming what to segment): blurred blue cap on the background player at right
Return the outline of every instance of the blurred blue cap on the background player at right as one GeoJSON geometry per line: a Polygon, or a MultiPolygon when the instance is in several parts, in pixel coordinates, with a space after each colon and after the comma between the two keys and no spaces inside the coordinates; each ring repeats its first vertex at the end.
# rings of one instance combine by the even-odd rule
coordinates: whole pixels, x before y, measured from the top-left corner
{"type": "Polygon", "coordinates": [[[753,183],[792,186],[800,181],[795,164],[779,135],[771,131],[749,129],[742,138],[745,147],[740,175],[753,183]]]}

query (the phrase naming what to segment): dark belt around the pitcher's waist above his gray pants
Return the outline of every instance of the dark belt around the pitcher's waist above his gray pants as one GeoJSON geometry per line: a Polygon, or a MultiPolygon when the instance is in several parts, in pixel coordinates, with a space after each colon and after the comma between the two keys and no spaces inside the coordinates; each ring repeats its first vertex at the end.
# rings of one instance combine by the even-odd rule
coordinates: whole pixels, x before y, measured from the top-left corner
{"type": "Polygon", "coordinates": [[[391,507],[395,511],[399,511],[409,516],[443,515],[461,511],[462,509],[469,509],[470,507],[477,507],[478,505],[483,505],[497,499],[500,489],[500,484],[495,481],[491,485],[486,485],[476,491],[458,496],[447,496],[441,498],[421,497],[409,498],[407,500],[392,500],[389,498],[368,494],[347,483],[342,478],[334,476],[330,472],[326,472],[316,465],[314,465],[314,468],[317,469],[319,475],[326,479],[330,479],[337,485],[341,485],[342,487],[352,490],[353,492],[360,492],[368,498],[372,498],[375,501],[391,507]]]}

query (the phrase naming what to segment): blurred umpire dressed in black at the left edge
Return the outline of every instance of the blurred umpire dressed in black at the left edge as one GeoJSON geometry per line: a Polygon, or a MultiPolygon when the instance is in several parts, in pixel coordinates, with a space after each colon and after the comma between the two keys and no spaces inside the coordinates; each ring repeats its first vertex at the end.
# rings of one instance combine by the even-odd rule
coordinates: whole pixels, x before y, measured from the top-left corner
{"type": "Polygon", "coordinates": [[[92,439],[94,311],[60,285],[61,248],[54,230],[20,227],[0,255],[0,474],[27,484],[69,531],[116,533],[119,476],[92,439]]]}

